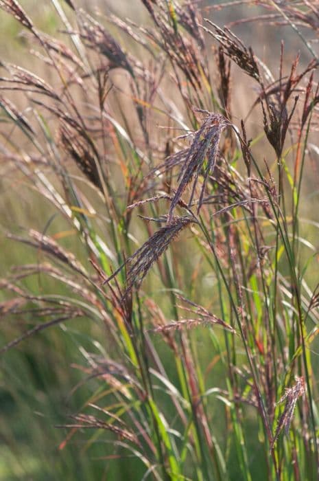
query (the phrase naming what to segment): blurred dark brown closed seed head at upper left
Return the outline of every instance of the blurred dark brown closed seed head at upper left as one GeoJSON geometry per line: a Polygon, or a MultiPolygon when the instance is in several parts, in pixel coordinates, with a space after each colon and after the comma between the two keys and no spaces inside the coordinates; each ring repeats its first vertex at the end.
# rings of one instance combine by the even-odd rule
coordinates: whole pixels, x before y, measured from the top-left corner
{"type": "Polygon", "coordinates": [[[102,169],[98,166],[98,160],[87,139],[81,137],[78,131],[68,126],[67,122],[63,120],[60,122],[59,138],[62,147],[71,155],[75,164],[93,183],[93,186],[103,190],[100,178],[102,169]]]}

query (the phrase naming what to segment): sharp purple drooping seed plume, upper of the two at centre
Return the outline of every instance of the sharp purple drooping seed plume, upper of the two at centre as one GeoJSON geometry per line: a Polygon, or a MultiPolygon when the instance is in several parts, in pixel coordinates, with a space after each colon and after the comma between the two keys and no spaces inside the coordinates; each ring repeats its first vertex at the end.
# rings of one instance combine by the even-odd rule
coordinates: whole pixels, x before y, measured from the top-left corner
{"type": "Polygon", "coordinates": [[[196,109],[196,112],[203,113],[206,118],[204,118],[204,122],[200,129],[193,134],[193,142],[182,165],[178,178],[179,185],[169,208],[167,223],[172,220],[174,209],[176,208],[176,205],[178,205],[182,193],[191,182],[191,179],[195,176],[191,196],[189,198],[189,205],[191,205],[196,185],[198,183],[198,177],[202,174],[204,168],[204,181],[202,183],[200,199],[198,201],[199,212],[204,199],[206,181],[215,168],[222,131],[224,131],[227,126],[231,125],[229,120],[219,113],[211,113],[200,109],[196,109]],[[205,161],[206,166],[204,167],[205,161]]]}

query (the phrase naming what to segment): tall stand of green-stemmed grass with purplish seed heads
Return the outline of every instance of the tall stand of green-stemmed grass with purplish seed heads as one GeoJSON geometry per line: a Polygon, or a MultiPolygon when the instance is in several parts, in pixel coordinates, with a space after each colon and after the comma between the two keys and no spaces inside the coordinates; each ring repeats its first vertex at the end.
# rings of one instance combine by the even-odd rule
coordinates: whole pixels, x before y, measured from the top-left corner
{"type": "Polygon", "coordinates": [[[1,63],[1,169],[48,212],[42,232],[6,233],[23,260],[1,279],[3,359],[53,326],[98,326],[74,340],[69,390],[86,397],[57,426],[59,456],[84,436],[85,464],[101,443],[103,474],[85,479],[127,457],[132,480],[317,479],[318,252],[300,208],[318,155],[318,2],[147,0],[141,25],[52,4],[59,38],[0,1],[44,77],[31,56],[1,63]],[[253,18],[206,19],[250,3],[253,18]],[[282,42],[268,67],[233,31],[248,21],[290,27],[303,55],[289,65],[282,42]],[[239,70],[255,87],[240,118],[239,70]]]}

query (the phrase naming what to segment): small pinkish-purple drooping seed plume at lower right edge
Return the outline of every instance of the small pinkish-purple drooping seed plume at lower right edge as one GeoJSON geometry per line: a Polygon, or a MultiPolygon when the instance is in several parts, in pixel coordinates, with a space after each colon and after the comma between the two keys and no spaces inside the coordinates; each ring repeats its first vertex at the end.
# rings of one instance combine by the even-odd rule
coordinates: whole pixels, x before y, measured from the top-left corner
{"type": "Polygon", "coordinates": [[[285,390],[285,394],[283,394],[281,399],[279,399],[278,404],[281,404],[285,401],[285,408],[283,410],[283,414],[281,414],[279,421],[277,423],[276,432],[272,440],[271,449],[274,449],[274,444],[276,443],[276,440],[279,438],[279,434],[281,433],[282,429],[284,429],[285,434],[287,436],[290,429],[290,425],[292,423],[292,416],[294,416],[294,408],[296,407],[296,402],[304,394],[305,394],[305,379],[303,379],[303,377],[296,377],[296,384],[292,386],[292,388],[287,388],[285,390]]]}

